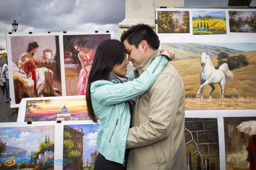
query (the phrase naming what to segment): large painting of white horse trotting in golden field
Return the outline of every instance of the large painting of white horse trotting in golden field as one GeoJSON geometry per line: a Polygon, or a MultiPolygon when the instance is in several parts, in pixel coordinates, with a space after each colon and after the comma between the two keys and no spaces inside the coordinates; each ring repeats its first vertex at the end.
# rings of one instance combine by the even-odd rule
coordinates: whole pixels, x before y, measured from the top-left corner
{"type": "Polygon", "coordinates": [[[256,109],[256,43],[161,43],[161,48],[176,53],[171,63],[184,82],[186,110],[256,109]]]}

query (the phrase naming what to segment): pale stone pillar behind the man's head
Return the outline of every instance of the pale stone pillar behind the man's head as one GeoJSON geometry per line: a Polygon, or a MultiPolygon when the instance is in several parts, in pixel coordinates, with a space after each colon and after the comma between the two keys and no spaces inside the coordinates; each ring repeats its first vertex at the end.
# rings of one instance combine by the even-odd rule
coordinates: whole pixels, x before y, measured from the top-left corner
{"type": "Polygon", "coordinates": [[[184,6],[184,0],[125,0],[125,18],[118,23],[118,40],[124,30],[137,23],[155,28],[156,6],[184,6]]]}

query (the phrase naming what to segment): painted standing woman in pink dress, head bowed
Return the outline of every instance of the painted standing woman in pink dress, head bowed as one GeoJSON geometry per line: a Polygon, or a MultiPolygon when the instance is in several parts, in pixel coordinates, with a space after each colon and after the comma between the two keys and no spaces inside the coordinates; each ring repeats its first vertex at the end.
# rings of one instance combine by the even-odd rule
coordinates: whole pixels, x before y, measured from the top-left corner
{"type": "Polygon", "coordinates": [[[95,50],[93,48],[84,48],[84,43],[78,40],[73,43],[73,47],[79,52],[78,58],[82,64],[82,70],[79,73],[78,95],[85,95],[95,50]]]}

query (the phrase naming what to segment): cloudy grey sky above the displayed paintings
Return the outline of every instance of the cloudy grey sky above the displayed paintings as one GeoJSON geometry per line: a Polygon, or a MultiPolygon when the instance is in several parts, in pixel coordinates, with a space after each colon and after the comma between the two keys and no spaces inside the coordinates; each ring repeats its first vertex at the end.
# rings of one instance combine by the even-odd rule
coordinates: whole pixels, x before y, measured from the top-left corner
{"type": "MultiPolygon", "coordinates": [[[[6,48],[5,33],[54,31],[115,31],[125,17],[125,0],[0,0],[0,47],[6,48]]],[[[256,6],[252,0],[251,6],[256,6]]],[[[184,6],[228,6],[228,0],[185,0],[184,6]]]]}

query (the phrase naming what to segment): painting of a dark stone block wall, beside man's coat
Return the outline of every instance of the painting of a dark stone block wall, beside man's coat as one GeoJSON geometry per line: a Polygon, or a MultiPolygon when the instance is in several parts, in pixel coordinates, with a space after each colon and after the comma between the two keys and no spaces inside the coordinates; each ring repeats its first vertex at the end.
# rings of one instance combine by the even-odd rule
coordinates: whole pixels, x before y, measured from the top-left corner
{"type": "Polygon", "coordinates": [[[211,169],[220,169],[217,118],[185,118],[184,133],[192,168],[204,169],[204,159],[207,158],[211,169]]]}

